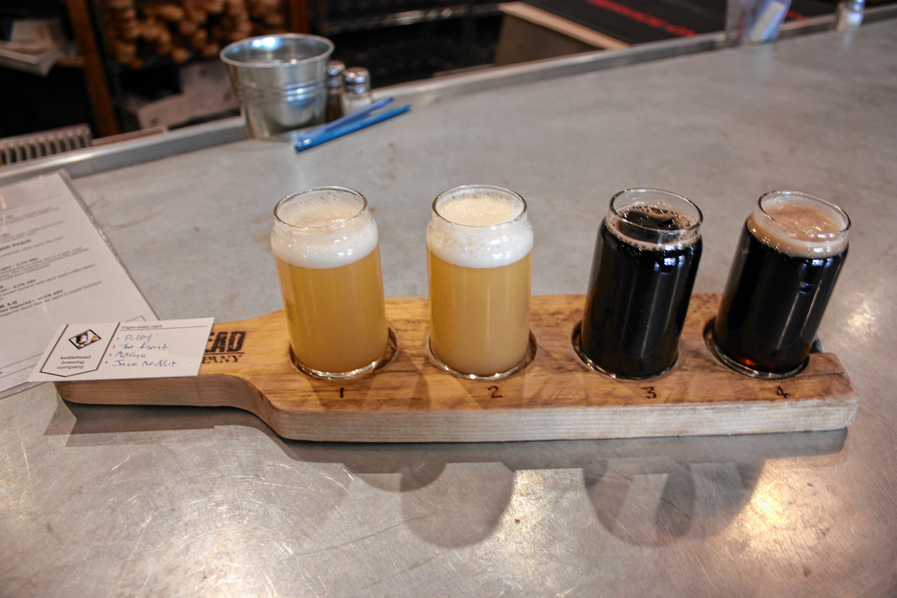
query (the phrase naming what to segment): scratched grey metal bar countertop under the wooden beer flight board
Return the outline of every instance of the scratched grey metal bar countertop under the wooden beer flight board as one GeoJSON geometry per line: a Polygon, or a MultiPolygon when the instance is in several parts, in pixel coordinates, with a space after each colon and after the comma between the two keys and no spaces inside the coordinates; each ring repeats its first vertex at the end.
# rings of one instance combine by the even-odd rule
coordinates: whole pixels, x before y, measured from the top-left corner
{"type": "Polygon", "coordinates": [[[614,192],[705,213],[721,290],[757,197],[843,206],[821,337],[856,381],[848,430],[475,445],[316,444],[232,409],[0,401],[0,595],[897,594],[897,22],[417,105],[295,155],[241,141],[75,186],[160,317],[279,308],[274,203],[360,190],[388,295],[426,292],[424,227],[471,182],[527,198],[534,292],[583,292],[614,192]]]}

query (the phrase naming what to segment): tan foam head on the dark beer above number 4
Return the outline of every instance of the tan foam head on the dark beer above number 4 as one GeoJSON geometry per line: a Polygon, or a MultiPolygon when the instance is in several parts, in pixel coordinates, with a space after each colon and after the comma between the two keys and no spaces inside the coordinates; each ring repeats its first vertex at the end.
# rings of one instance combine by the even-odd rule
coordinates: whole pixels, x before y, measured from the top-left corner
{"type": "Polygon", "coordinates": [[[848,245],[850,219],[837,205],[795,191],[772,191],[748,216],[754,237],[788,256],[830,257],[848,245]]]}

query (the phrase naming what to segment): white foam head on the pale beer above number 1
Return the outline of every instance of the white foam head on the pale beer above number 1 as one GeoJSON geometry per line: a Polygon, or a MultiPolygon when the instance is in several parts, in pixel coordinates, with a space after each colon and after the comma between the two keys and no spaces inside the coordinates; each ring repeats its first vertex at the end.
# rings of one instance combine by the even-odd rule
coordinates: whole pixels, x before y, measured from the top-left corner
{"type": "Polygon", "coordinates": [[[377,247],[377,222],[364,197],[344,187],[287,195],[274,208],[274,256],[303,268],[352,264],[377,247]]]}

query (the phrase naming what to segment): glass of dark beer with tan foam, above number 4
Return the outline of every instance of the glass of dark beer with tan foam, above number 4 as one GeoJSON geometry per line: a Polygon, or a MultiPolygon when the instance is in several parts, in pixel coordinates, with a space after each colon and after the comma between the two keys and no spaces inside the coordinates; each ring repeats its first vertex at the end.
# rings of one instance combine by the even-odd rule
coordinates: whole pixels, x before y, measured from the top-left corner
{"type": "Polygon", "coordinates": [[[797,191],[762,195],[741,230],[713,326],[720,360],[753,377],[806,365],[847,257],[850,219],[797,191]]]}

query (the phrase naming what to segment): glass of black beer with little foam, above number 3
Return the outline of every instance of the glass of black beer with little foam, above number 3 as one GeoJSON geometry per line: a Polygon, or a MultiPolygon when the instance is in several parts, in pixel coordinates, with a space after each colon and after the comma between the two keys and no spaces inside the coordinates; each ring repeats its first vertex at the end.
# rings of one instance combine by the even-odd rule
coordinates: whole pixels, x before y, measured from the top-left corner
{"type": "Polygon", "coordinates": [[[579,354],[613,377],[672,368],[701,261],[701,210],[682,195],[627,189],[598,230],[579,354]]]}

